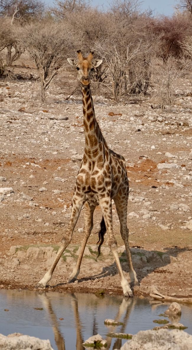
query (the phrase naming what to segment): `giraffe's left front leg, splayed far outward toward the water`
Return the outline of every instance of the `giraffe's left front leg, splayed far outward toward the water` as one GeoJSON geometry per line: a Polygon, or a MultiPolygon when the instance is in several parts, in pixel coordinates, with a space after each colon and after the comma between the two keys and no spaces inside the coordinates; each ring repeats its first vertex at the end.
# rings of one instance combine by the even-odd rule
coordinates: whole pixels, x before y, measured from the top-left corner
{"type": "Polygon", "coordinates": [[[70,216],[70,220],[69,220],[67,231],[66,231],[65,235],[62,238],[61,246],[60,246],[60,248],[59,248],[59,250],[57,252],[57,255],[56,255],[56,257],[55,257],[51,267],[44,274],[43,278],[37,283],[36,288],[38,288],[38,287],[41,287],[41,288],[46,287],[47,283],[52,278],[52,274],[53,274],[53,271],[54,271],[54,269],[55,269],[55,267],[57,265],[57,262],[59,261],[59,259],[61,258],[61,255],[63,254],[64,250],[67,248],[67,246],[69,245],[69,243],[71,241],[73,230],[75,228],[75,225],[77,223],[78,217],[80,215],[83,203],[84,203],[84,198],[78,197],[75,194],[73,195],[71,216],[70,216]]]}

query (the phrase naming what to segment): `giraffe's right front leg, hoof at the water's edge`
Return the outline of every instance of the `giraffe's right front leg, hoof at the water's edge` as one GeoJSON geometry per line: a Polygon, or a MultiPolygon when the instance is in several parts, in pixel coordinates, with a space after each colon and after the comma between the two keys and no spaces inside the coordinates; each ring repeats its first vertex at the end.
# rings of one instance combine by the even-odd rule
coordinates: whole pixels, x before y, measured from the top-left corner
{"type": "Polygon", "coordinates": [[[121,263],[119,261],[118,253],[117,253],[117,241],[115,239],[114,233],[113,233],[113,228],[112,228],[112,204],[111,204],[111,198],[101,198],[98,195],[98,201],[101,206],[101,210],[103,213],[104,221],[105,221],[105,226],[107,229],[107,238],[108,238],[108,245],[114,255],[114,259],[119,271],[119,275],[121,277],[121,286],[123,289],[123,294],[124,296],[127,297],[132,297],[133,292],[129,286],[128,281],[126,280],[123,269],[121,267],[121,263]]]}

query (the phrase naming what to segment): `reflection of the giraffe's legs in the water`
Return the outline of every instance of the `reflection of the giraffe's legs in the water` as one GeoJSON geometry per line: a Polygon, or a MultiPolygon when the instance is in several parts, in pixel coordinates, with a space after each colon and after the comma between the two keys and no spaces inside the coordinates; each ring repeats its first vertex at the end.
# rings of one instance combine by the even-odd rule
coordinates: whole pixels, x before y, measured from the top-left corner
{"type": "MultiPolygon", "coordinates": [[[[65,344],[65,339],[64,336],[62,335],[61,332],[61,323],[59,322],[59,317],[56,315],[53,307],[52,307],[52,300],[49,297],[48,294],[43,293],[43,294],[39,294],[41,301],[43,302],[44,308],[47,311],[47,314],[50,318],[50,322],[51,325],[53,327],[53,332],[54,332],[54,338],[55,338],[55,343],[57,345],[57,349],[58,350],[71,350],[71,349],[67,349],[66,348],[66,344],[65,344]]],[[[71,307],[73,309],[73,314],[74,314],[74,320],[75,320],[75,324],[76,324],[76,350],[85,350],[84,346],[82,345],[83,342],[86,339],[83,339],[83,335],[82,335],[82,323],[81,323],[81,318],[80,318],[80,313],[78,310],[78,302],[80,299],[80,297],[82,298],[82,296],[80,295],[71,295],[71,307]]],[[[101,296],[98,297],[98,303],[100,303],[101,301],[101,296]]],[[[81,301],[80,301],[81,303],[81,301]]],[[[132,311],[132,309],[134,308],[136,304],[136,300],[135,299],[123,299],[122,303],[119,306],[118,312],[114,318],[115,321],[117,322],[122,322],[123,324],[121,325],[121,328],[118,329],[118,333],[123,333],[125,331],[125,327],[126,324],[128,323],[129,320],[129,316],[130,313],[132,311]],[[124,315],[124,316],[123,316],[124,315]]],[[[96,322],[96,311],[97,311],[97,303],[95,304],[95,308],[94,308],[94,315],[93,315],[93,327],[92,327],[92,334],[90,334],[90,336],[92,335],[96,335],[98,333],[97,330],[97,322],[96,322]]],[[[86,317],[86,314],[84,315],[84,317],[86,317]]],[[[103,327],[105,327],[105,325],[103,324],[103,327]]],[[[110,333],[114,333],[116,332],[116,329],[119,326],[108,326],[106,328],[106,333],[110,334],[110,333]]],[[[111,349],[111,343],[112,343],[112,339],[109,336],[105,337],[106,341],[107,341],[107,348],[105,348],[106,350],[111,349]]],[[[121,349],[122,346],[122,339],[117,338],[115,343],[112,346],[112,349],[121,349]]]]}

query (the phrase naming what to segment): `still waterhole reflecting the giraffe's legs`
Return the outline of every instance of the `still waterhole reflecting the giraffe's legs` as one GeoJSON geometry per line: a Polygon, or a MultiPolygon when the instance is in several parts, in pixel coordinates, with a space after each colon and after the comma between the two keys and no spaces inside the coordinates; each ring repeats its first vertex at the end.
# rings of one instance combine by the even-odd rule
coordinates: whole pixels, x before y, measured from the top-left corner
{"type": "MultiPolygon", "coordinates": [[[[139,330],[152,329],[158,325],[153,320],[165,318],[159,314],[169,305],[137,297],[125,300],[123,296],[112,295],[1,290],[0,333],[19,332],[49,339],[54,350],[84,350],[82,343],[100,334],[107,339],[107,349],[120,349],[126,339],[108,337],[109,333],[136,334],[139,330]],[[106,318],[122,324],[107,326],[106,318]]],[[[181,310],[178,321],[192,334],[192,306],[181,304],[181,310]]]]}

